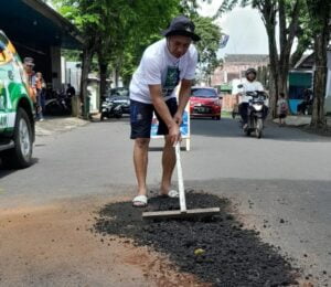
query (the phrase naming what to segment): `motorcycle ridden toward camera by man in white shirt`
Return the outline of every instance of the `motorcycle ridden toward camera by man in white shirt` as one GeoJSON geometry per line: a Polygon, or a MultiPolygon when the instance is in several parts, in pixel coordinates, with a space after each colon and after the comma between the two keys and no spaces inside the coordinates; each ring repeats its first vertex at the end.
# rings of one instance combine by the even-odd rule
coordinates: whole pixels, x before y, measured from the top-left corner
{"type": "Polygon", "coordinates": [[[248,121],[245,127],[243,127],[246,136],[250,136],[250,132],[255,132],[257,138],[261,138],[264,129],[264,118],[265,118],[265,92],[245,92],[246,96],[250,97],[248,102],[248,121]]]}

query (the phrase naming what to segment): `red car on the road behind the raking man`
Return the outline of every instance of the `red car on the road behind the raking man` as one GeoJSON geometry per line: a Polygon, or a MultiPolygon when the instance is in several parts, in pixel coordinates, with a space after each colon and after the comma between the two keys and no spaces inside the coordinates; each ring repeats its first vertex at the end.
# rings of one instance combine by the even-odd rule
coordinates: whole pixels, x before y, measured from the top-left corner
{"type": "Polygon", "coordinates": [[[221,119],[222,98],[213,87],[192,87],[190,98],[191,117],[221,119]]]}

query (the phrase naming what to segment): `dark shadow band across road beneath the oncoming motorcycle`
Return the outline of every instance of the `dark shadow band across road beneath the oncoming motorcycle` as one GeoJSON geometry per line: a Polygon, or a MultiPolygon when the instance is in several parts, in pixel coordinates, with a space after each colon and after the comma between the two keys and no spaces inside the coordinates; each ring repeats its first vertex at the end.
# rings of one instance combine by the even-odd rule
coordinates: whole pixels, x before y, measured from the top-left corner
{"type": "MultiPolygon", "coordinates": [[[[192,119],[191,134],[215,138],[247,138],[238,119],[222,118],[222,120],[212,119],[192,119]]],[[[254,138],[254,134],[250,136],[254,138]]],[[[331,138],[312,135],[295,127],[278,127],[273,121],[266,123],[263,139],[280,141],[307,141],[307,142],[331,142],[331,138]]]]}

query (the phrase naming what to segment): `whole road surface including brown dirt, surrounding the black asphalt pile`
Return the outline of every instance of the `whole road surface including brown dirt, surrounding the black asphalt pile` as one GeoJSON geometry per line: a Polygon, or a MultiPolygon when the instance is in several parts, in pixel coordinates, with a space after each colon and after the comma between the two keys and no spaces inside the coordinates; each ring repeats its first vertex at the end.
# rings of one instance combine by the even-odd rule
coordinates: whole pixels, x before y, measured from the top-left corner
{"type": "MultiPolygon", "coordinates": [[[[154,252],[150,243],[136,246],[138,237],[129,234],[96,232],[99,211],[128,202],[135,193],[129,123],[124,118],[76,126],[58,132],[44,126],[35,142],[35,163],[20,171],[0,170],[0,286],[221,284],[217,276],[183,268],[169,248],[156,246],[154,252]]],[[[233,119],[192,120],[192,149],[182,152],[186,189],[228,199],[235,232],[252,232],[256,243],[270,244],[284,266],[291,258],[291,267],[302,270],[300,285],[330,285],[331,139],[274,125],[264,136],[244,137],[233,119]]],[[[148,182],[156,193],[160,147],[161,140],[152,140],[148,182]]],[[[247,275],[244,268],[237,277],[258,281],[256,270],[247,275]]]]}

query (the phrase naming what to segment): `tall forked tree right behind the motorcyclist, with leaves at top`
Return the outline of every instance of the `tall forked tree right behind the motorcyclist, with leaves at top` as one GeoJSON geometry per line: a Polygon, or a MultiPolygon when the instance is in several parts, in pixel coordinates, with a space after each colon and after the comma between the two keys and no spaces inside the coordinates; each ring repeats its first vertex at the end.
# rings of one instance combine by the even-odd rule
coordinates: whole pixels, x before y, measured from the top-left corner
{"type": "MultiPolygon", "coordinates": [[[[279,93],[287,95],[287,78],[293,40],[299,31],[299,17],[303,13],[303,0],[225,0],[218,14],[232,10],[235,6],[252,4],[258,9],[264,21],[269,45],[270,61],[270,114],[276,116],[276,103],[279,93]],[[276,25],[279,25],[279,51],[277,47],[276,25]]],[[[299,52],[298,52],[299,54],[299,52]]]]}

